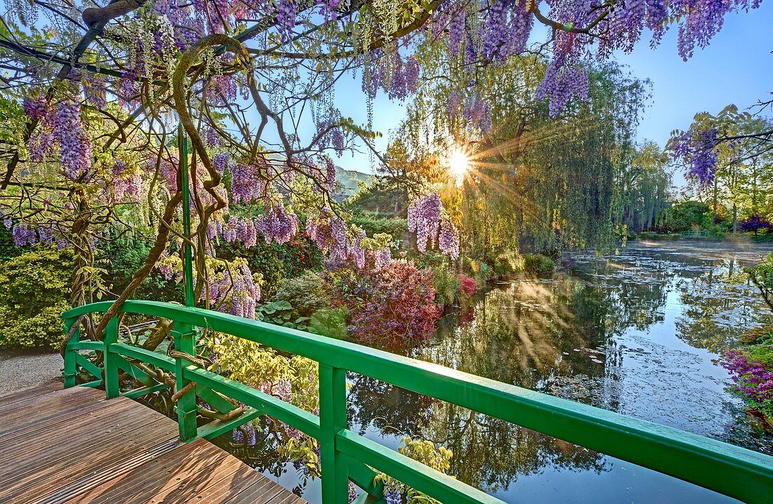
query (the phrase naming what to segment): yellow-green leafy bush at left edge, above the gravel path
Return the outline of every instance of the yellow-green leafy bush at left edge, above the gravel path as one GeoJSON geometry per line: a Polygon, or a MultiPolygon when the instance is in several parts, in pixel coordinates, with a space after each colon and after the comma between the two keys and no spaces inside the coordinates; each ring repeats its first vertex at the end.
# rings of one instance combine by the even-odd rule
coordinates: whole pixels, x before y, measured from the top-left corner
{"type": "Polygon", "coordinates": [[[59,347],[71,275],[72,257],[56,249],[35,249],[0,266],[0,347],[59,347]]]}

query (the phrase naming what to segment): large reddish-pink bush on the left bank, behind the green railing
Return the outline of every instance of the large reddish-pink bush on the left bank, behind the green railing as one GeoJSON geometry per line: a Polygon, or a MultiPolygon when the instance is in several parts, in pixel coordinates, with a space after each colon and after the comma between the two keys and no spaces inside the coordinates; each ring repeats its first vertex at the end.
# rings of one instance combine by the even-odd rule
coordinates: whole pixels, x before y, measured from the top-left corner
{"type": "Polygon", "coordinates": [[[380,269],[339,268],[325,274],[336,306],[349,310],[349,333],[362,343],[397,347],[434,334],[441,310],[432,272],[392,260],[380,269]]]}

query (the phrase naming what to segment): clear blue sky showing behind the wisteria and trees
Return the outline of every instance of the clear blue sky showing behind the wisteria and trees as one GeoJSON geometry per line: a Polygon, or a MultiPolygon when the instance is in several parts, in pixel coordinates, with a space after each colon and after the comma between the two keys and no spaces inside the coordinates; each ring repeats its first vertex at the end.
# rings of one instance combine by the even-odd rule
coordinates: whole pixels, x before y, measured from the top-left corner
{"type": "MultiPolygon", "coordinates": [[[[710,46],[696,49],[687,62],[676,53],[676,30],[669,31],[655,50],[649,49],[649,37],[645,37],[631,54],[616,54],[615,59],[628,65],[635,76],[652,80],[652,106],[643,113],[639,139],[655,140],[663,147],[672,130],[690,126],[696,112],[717,113],[730,103],[744,109],[769,100],[773,97],[771,51],[773,0],[763,0],[758,9],[728,16],[710,46]]],[[[359,77],[345,77],[339,83],[336,103],[344,116],[366,123],[359,77]]],[[[404,117],[404,109],[383,94],[373,108],[374,127],[384,134],[376,145],[383,151],[388,132],[404,117]]],[[[349,170],[370,171],[366,155],[346,154],[337,163],[349,170]]]]}

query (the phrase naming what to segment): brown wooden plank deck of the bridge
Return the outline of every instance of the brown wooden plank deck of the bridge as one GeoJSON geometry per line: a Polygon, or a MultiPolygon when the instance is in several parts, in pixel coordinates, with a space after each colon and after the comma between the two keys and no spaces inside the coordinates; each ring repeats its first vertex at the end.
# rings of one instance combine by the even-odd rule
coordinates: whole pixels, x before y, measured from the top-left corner
{"type": "Polygon", "coordinates": [[[0,502],[305,502],[125,397],[51,384],[0,397],[0,502]]]}

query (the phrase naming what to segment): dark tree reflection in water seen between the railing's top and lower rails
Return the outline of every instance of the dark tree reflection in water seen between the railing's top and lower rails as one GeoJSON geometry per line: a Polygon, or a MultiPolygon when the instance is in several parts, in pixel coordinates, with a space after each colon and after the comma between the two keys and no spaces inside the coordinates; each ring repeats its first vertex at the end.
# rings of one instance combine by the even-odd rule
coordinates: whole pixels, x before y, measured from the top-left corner
{"type": "Polygon", "coordinates": [[[483,490],[507,489],[518,475],[551,466],[608,470],[603,455],[497,418],[487,417],[369,377],[350,381],[349,419],[363,435],[410,435],[454,452],[450,473],[483,490]]]}

